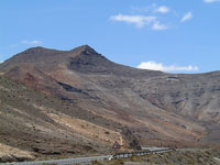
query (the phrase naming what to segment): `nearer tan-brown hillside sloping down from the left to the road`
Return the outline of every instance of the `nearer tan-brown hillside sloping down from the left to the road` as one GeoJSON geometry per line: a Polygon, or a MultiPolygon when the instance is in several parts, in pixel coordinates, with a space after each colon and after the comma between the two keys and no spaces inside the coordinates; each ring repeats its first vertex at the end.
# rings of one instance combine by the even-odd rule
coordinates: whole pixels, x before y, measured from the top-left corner
{"type": "Polygon", "coordinates": [[[119,123],[0,76],[0,162],[108,153],[114,141],[136,142],[119,123]]]}

